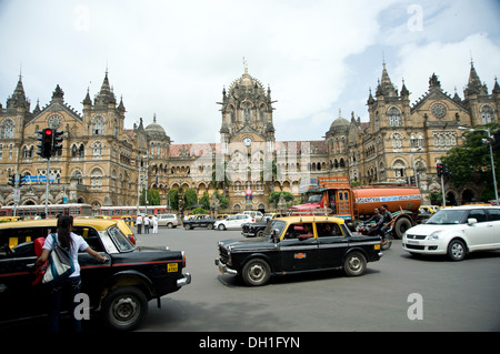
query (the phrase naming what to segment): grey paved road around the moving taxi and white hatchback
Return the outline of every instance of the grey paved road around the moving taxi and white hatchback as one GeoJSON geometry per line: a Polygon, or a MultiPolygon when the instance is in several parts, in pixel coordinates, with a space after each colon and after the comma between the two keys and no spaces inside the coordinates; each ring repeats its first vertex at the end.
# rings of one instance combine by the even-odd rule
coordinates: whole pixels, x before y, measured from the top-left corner
{"type": "Polygon", "coordinates": [[[321,272],[248,287],[213,263],[217,242],[238,236],[179,227],[139,235],[138,245],[184,250],[193,276],[162,297],[162,309],[150,302],[140,331],[500,331],[500,252],[452,263],[414,259],[396,241],[361,277],[321,272]],[[422,320],[409,320],[409,310],[422,320]]]}

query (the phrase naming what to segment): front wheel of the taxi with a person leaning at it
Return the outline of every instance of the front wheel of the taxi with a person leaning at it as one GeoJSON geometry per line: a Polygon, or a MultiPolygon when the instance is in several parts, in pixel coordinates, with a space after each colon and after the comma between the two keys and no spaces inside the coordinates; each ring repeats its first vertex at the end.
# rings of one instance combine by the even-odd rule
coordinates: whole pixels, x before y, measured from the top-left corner
{"type": "Polygon", "coordinates": [[[111,291],[102,302],[106,324],[116,331],[136,328],[148,313],[144,293],[134,286],[122,286],[111,291]]]}

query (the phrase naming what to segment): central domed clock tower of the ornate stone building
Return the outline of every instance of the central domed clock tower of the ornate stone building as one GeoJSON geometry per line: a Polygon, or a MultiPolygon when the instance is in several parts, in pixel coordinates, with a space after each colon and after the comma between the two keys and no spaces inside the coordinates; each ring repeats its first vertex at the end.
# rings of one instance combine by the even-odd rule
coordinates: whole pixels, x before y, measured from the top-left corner
{"type": "Polygon", "coordinates": [[[241,209],[267,206],[271,181],[263,181],[264,162],[274,156],[274,125],[272,122],[271,89],[244,72],[227,91],[222,90],[222,124],[220,128],[221,153],[226,161],[226,175],[230,188],[224,193],[241,209]],[[251,194],[248,193],[251,191],[251,194]]]}

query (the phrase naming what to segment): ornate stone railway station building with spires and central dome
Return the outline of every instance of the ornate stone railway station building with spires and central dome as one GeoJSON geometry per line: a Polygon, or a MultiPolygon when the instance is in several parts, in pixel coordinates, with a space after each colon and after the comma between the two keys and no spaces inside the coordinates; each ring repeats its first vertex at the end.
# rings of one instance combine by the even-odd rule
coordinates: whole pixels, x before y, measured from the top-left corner
{"type": "MultiPolygon", "coordinates": [[[[94,209],[137,205],[138,193],[147,185],[159,190],[162,204],[170,189],[193,188],[199,198],[218,190],[233,212],[269,210],[272,191],[298,196],[301,178],[320,175],[348,175],[362,185],[407,183],[417,175],[414,183],[427,195],[441,190],[437,162],[462,143],[458,127],[499,122],[499,102],[497,79],[489,93],[471,63],[463,98],[443,92],[432,74],[429,90],[410,104],[404,82],[398,91],[383,63],[377,89],[368,95],[368,122],[353,112],[346,119],[339,110],[326,132],[318,132],[318,140],[276,141],[271,90],[244,67],[217,102],[220,141],[182,144],[172,143],[156,117],[146,127],[141,118],[133,129],[126,129],[127,111],[111,89],[108,72],[94,99],[89,92],[84,95],[81,113],[64,102],[59,85],[47,105],[37,102],[31,109],[20,77],[6,107],[0,103],[0,204],[13,204],[9,174],[47,174],[47,160],[36,153],[36,132],[47,127],[64,131],[63,149],[50,162],[56,178],[51,204],[67,200],[94,209]],[[249,189],[252,199],[246,199],[249,189]]],[[[446,190],[448,199],[460,204],[479,199],[482,189],[470,184],[457,190],[448,183],[446,190]]],[[[19,204],[44,200],[44,184],[21,188],[19,204]]]]}

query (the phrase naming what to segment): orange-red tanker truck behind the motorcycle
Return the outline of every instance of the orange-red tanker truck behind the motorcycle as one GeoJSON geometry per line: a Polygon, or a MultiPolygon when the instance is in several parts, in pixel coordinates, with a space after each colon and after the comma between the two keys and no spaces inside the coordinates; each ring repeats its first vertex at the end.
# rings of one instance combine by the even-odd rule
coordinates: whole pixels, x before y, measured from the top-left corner
{"type": "Polygon", "coordinates": [[[351,226],[358,221],[373,215],[373,209],[382,204],[396,219],[394,235],[402,237],[404,231],[417,223],[418,210],[422,195],[412,186],[350,186],[349,178],[312,178],[300,181],[299,192],[303,193],[306,203],[293,205],[291,210],[326,210],[329,214],[342,218],[351,226]]]}

